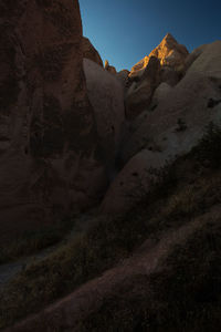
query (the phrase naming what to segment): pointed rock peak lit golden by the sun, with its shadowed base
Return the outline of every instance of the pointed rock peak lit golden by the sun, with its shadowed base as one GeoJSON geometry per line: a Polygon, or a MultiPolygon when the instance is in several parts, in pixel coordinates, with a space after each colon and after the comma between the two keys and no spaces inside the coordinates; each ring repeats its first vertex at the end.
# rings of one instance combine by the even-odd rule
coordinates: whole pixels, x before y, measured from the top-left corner
{"type": "Polygon", "coordinates": [[[175,86],[183,76],[188,51],[168,33],[161,43],[140,60],[128,75],[126,114],[128,120],[147,110],[156,87],[165,82],[175,86]]]}

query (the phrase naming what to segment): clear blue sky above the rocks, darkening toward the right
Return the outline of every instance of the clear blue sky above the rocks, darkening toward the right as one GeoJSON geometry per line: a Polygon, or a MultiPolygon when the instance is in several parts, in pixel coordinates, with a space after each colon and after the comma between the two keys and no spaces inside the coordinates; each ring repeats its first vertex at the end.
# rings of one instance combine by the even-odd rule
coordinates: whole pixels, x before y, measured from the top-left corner
{"type": "Polygon", "coordinates": [[[189,51],[221,39],[221,0],[78,0],[83,33],[119,71],[148,55],[167,32],[189,51]]]}

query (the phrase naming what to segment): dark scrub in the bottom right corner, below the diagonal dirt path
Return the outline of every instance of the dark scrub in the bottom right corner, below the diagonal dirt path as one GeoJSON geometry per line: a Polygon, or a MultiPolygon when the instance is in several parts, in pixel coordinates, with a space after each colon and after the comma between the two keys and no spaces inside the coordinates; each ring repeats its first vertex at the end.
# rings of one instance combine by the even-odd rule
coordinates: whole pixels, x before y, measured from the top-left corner
{"type": "Polygon", "coordinates": [[[173,250],[164,271],[125,281],[97,312],[80,322],[78,331],[220,331],[220,239],[219,224],[204,226],[173,250]]]}

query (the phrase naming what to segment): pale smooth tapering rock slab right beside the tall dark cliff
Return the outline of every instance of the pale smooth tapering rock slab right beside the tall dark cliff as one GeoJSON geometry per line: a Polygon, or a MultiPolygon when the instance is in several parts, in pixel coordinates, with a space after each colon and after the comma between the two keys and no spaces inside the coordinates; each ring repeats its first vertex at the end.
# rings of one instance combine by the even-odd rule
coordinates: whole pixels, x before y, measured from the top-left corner
{"type": "Polygon", "coordinates": [[[102,158],[108,177],[115,174],[115,159],[125,122],[124,89],[116,76],[84,59],[90,101],[94,108],[102,158]]]}

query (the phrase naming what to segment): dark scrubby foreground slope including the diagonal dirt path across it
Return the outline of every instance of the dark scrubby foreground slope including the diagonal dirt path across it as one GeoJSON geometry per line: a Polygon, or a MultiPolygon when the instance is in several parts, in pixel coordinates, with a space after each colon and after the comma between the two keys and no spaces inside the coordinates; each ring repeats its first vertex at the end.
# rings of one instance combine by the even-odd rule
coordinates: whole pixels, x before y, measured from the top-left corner
{"type": "Polygon", "coordinates": [[[206,142],[135,210],[101,219],[78,242],[21,272],[1,295],[4,320],[41,312],[6,331],[220,329],[221,173],[215,149],[207,165],[199,158],[209,153],[206,142]]]}

